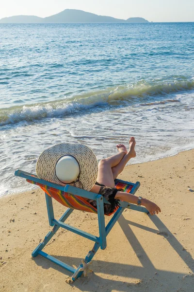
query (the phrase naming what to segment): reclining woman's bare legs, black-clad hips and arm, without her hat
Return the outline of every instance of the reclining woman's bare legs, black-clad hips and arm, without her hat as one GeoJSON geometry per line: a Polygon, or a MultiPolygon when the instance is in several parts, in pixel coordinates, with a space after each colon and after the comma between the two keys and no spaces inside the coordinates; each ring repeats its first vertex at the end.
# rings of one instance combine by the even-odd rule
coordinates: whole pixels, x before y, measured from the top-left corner
{"type": "MultiPolygon", "coordinates": [[[[91,192],[103,195],[110,204],[105,204],[105,214],[112,213],[115,205],[119,204],[118,200],[126,201],[132,204],[143,205],[151,215],[161,212],[159,206],[147,199],[136,197],[132,194],[125,193],[122,190],[117,190],[114,187],[114,180],[123,171],[129,159],[136,156],[135,153],[135,138],[129,140],[129,151],[123,144],[118,144],[118,153],[100,160],[98,164],[97,183],[91,188],[91,192]]],[[[96,201],[88,200],[90,204],[96,207],[96,201]]]]}

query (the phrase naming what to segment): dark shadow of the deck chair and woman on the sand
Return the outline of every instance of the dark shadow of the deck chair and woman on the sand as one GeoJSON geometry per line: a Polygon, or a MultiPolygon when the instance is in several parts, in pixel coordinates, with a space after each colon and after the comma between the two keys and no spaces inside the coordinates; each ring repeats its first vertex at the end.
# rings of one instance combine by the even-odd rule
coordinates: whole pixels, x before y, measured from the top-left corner
{"type": "MultiPolygon", "coordinates": [[[[163,285],[162,291],[176,291],[180,289],[181,286],[186,287],[187,285],[190,285],[193,281],[193,277],[189,277],[184,273],[157,270],[152,264],[149,257],[146,255],[146,252],[144,251],[142,245],[138,241],[137,237],[135,236],[129,225],[136,226],[155,234],[158,233],[158,231],[162,231],[163,233],[161,233],[160,235],[164,235],[166,240],[168,240],[173,249],[178,253],[178,256],[182,258],[182,260],[194,273],[194,259],[192,258],[191,254],[186,250],[183,250],[183,246],[178,242],[177,238],[174,237],[174,235],[167,229],[167,227],[157,216],[149,217],[158,228],[158,230],[127,220],[123,217],[123,215],[121,215],[118,219],[118,223],[122,228],[126,238],[129,240],[129,243],[134,252],[138,256],[142,267],[94,259],[92,260],[93,263],[91,268],[94,269],[95,273],[97,274],[105,274],[105,278],[102,278],[95,273],[91,273],[86,278],[84,278],[82,275],[81,278],[79,280],[76,280],[72,285],[76,288],[79,288],[81,291],[88,292],[97,292],[99,290],[109,292],[112,291],[112,289],[122,292],[128,292],[130,287],[133,289],[132,291],[136,291],[136,289],[137,291],[141,291],[141,286],[142,289],[145,291],[145,287],[147,287],[146,285],[149,285],[149,289],[151,289],[158,287],[158,285],[161,285],[161,283],[163,285]],[[121,279],[117,279],[118,277],[121,277],[121,279]],[[140,279],[140,281],[134,281],[131,280],[131,278],[140,279]],[[164,279],[166,281],[164,281],[164,279]],[[87,285],[85,285],[86,283],[87,285]]],[[[55,257],[70,266],[72,266],[73,263],[78,267],[81,263],[81,258],[79,257],[55,257]]],[[[56,271],[65,274],[67,277],[72,276],[72,274],[66,271],[64,268],[59,267],[55,263],[52,263],[51,261],[41,256],[37,256],[33,259],[37,265],[42,266],[44,269],[53,268],[56,271]]]]}

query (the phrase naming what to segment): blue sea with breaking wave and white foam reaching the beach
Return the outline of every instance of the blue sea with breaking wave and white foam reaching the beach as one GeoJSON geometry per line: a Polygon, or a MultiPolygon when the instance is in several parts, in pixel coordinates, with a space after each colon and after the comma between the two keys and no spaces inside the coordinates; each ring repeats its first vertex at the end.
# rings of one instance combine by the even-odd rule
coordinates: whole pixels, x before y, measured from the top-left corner
{"type": "Polygon", "coordinates": [[[0,196],[48,147],[130,136],[131,164],[194,148],[194,22],[0,24],[0,196]]]}

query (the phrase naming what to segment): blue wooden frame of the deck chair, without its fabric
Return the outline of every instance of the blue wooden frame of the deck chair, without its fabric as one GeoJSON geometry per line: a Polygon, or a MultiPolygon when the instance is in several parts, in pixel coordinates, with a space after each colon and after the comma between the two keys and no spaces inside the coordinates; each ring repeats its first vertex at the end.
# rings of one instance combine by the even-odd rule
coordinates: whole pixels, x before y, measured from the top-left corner
{"type": "MultiPolygon", "coordinates": [[[[113,228],[114,224],[116,223],[116,221],[119,219],[119,217],[121,216],[121,214],[123,213],[125,208],[131,209],[131,210],[136,210],[139,212],[144,212],[144,213],[149,213],[147,211],[147,209],[145,207],[141,207],[141,206],[137,206],[134,204],[130,204],[128,202],[124,202],[124,201],[120,201],[120,207],[117,209],[117,211],[113,214],[112,219],[109,221],[109,223],[107,224],[107,226],[105,226],[105,219],[104,219],[104,203],[109,203],[108,201],[106,201],[104,199],[103,196],[96,194],[96,193],[92,193],[89,191],[85,191],[82,190],[80,188],[74,187],[72,185],[65,185],[65,186],[61,186],[55,183],[49,183],[45,180],[41,180],[39,179],[36,175],[32,175],[31,173],[22,171],[22,170],[16,170],[15,175],[18,177],[22,177],[28,180],[31,180],[35,183],[42,183],[44,185],[47,185],[49,187],[53,187],[56,188],[58,190],[67,192],[69,194],[72,195],[77,195],[86,199],[91,199],[91,200],[96,200],[97,201],[97,217],[98,217],[98,228],[99,228],[99,237],[94,236],[90,233],[87,233],[85,231],[82,231],[76,227],[70,226],[65,222],[65,220],[69,217],[69,215],[73,212],[74,209],[68,208],[64,215],[59,219],[55,219],[54,218],[54,211],[53,211],[53,205],[52,205],[52,198],[49,197],[47,195],[47,193],[45,193],[46,196],[46,203],[47,203],[47,211],[48,211],[48,217],[49,217],[49,225],[53,226],[52,230],[49,231],[49,233],[46,235],[46,237],[44,238],[43,242],[39,243],[39,245],[34,249],[34,251],[32,252],[32,257],[41,255],[46,257],[47,259],[49,259],[50,261],[54,262],[55,264],[61,266],[62,268],[65,268],[67,271],[73,273],[72,276],[72,280],[75,281],[78,277],[81,276],[81,274],[83,273],[82,271],[80,271],[80,269],[83,267],[82,264],[80,264],[80,266],[75,269],[67,264],[65,264],[64,262],[56,259],[54,256],[50,256],[48,254],[46,254],[45,252],[42,251],[42,249],[46,246],[46,244],[49,242],[49,240],[53,237],[53,235],[57,232],[57,230],[62,227],[65,228],[71,232],[74,232],[82,237],[88,238],[92,241],[95,242],[94,247],[91,251],[89,251],[89,253],[87,254],[87,256],[85,257],[84,261],[85,263],[89,263],[92,258],[95,256],[95,254],[97,253],[97,250],[99,249],[99,247],[104,250],[107,246],[107,242],[106,242],[106,237],[109,234],[109,232],[111,231],[111,229],[113,228]]],[[[120,182],[120,183],[126,183],[126,184],[131,184],[133,185],[130,194],[135,194],[135,192],[137,191],[137,189],[140,186],[139,182],[136,183],[129,183],[126,181],[122,181],[122,180],[115,180],[115,182],[120,182]]]]}

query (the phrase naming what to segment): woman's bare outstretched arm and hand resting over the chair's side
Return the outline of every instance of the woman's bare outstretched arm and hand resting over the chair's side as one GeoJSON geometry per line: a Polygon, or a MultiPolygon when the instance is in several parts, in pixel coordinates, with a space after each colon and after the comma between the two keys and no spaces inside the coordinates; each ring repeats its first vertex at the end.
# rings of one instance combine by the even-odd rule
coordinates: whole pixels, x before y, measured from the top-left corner
{"type": "MultiPolygon", "coordinates": [[[[115,199],[118,199],[120,201],[126,201],[131,204],[137,204],[137,201],[139,201],[138,197],[132,194],[120,192],[120,191],[116,193],[115,199]]],[[[142,205],[146,207],[146,209],[149,211],[151,215],[155,215],[156,213],[158,214],[159,212],[161,212],[161,209],[155,203],[143,198],[141,202],[142,202],[142,205]]]]}

